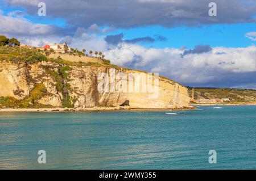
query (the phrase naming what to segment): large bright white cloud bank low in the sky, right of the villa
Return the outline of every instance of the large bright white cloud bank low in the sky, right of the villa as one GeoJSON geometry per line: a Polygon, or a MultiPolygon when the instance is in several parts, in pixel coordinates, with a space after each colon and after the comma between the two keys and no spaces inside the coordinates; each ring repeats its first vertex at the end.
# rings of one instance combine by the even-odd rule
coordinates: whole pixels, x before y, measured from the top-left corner
{"type": "MultiPolygon", "coordinates": [[[[183,50],[176,48],[147,49],[133,44],[121,44],[105,52],[106,58],[113,64],[132,64],[135,69],[158,72],[185,85],[207,85],[210,82],[232,79],[234,76],[239,79],[239,75],[256,73],[255,46],[215,47],[207,53],[187,54],[181,58],[182,53],[183,50]]],[[[251,77],[252,81],[253,79],[255,78],[251,77]]]]}

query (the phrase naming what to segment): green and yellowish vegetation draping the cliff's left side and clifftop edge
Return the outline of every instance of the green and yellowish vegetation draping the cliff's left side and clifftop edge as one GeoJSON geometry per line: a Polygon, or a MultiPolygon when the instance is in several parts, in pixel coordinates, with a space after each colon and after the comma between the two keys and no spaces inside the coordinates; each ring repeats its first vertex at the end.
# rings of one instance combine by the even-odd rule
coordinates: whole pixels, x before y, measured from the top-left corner
{"type": "MultiPolygon", "coordinates": [[[[12,40],[14,41],[14,40],[12,40]]],[[[40,67],[45,70],[45,73],[52,77],[53,81],[55,81],[55,87],[57,91],[61,92],[62,99],[62,107],[73,108],[76,102],[76,98],[72,98],[69,93],[72,92],[69,81],[69,74],[72,68],[71,66],[94,66],[94,67],[111,67],[111,68],[119,68],[119,66],[110,64],[110,61],[103,60],[103,63],[100,64],[98,62],[70,62],[65,61],[61,58],[49,58],[43,52],[40,52],[37,49],[31,49],[26,47],[18,47],[18,46],[4,46],[9,43],[9,39],[4,39],[2,37],[2,45],[0,46],[0,61],[12,62],[15,64],[24,64],[26,65],[27,71],[31,69],[32,64],[36,64],[39,62],[51,62],[57,65],[57,71],[48,65],[41,65],[40,67]],[[5,43],[6,42],[6,43],[5,43]]],[[[45,74],[45,75],[46,75],[45,74]]],[[[41,75],[40,78],[45,76],[41,75]]],[[[11,96],[0,97],[0,108],[47,108],[51,106],[40,105],[36,100],[39,100],[43,96],[49,94],[44,87],[43,83],[36,83],[35,79],[31,77],[29,73],[26,75],[27,83],[34,84],[34,88],[30,91],[30,95],[26,96],[26,98],[22,100],[17,100],[11,96]]],[[[14,91],[14,95],[22,94],[23,90],[14,91]]]]}

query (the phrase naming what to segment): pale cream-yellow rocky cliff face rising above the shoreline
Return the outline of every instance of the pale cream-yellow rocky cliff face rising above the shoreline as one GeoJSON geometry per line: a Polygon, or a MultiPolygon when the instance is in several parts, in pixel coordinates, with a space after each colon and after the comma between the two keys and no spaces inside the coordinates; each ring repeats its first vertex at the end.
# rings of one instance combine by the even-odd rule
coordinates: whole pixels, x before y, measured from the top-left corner
{"type": "Polygon", "coordinates": [[[188,90],[179,83],[118,67],[0,61],[0,77],[0,108],[182,108],[189,103],[188,90]]]}

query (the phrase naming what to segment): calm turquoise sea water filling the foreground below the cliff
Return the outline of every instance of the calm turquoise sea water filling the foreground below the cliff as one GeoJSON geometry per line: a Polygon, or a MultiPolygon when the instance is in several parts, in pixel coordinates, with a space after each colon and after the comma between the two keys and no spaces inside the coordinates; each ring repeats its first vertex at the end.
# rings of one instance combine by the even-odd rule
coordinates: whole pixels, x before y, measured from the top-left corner
{"type": "Polygon", "coordinates": [[[256,106],[199,108],[0,113],[0,169],[256,169],[256,106]]]}

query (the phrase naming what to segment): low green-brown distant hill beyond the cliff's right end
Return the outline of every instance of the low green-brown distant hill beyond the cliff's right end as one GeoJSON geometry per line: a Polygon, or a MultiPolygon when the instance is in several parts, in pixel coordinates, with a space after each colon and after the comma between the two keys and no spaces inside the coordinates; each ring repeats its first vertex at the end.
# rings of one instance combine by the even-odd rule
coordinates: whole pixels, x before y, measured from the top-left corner
{"type": "MultiPolygon", "coordinates": [[[[188,94],[192,98],[192,87],[188,87],[188,94]]],[[[223,99],[229,98],[230,103],[256,103],[256,90],[228,89],[214,87],[194,88],[194,99],[223,99]]]]}

